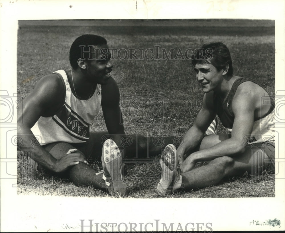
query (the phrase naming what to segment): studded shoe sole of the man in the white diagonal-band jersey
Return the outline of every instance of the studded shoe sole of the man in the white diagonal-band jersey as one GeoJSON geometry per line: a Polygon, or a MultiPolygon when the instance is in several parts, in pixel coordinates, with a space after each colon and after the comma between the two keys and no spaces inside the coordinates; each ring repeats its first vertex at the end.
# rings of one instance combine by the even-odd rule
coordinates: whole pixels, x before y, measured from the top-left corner
{"type": "Polygon", "coordinates": [[[122,155],[116,143],[111,139],[107,139],[104,142],[102,150],[103,162],[111,177],[111,184],[107,186],[109,193],[123,197],[126,194],[126,185],[121,173],[122,155]]]}

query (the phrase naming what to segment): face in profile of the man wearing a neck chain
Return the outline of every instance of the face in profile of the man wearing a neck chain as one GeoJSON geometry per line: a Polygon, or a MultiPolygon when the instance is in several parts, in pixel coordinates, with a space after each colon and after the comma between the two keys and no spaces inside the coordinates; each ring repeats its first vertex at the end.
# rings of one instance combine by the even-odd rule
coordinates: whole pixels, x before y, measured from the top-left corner
{"type": "Polygon", "coordinates": [[[111,53],[107,44],[92,47],[92,58],[86,62],[87,79],[93,83],[105,85],[111,77],[112,63],[111,53]]]}

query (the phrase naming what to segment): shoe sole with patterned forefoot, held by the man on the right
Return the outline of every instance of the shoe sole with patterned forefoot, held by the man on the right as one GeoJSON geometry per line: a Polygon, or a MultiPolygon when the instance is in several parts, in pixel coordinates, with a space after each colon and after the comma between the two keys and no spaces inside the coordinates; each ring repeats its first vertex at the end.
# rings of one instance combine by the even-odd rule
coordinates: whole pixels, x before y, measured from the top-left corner
{"type": "Polygon", "coordinates": [[[168,189],[177,173],[178,156],[174,145],[169,144],[162,152],[160,159],[161,179],[157,185],[157,192],[161,195],[171,193],[168,189]]]}

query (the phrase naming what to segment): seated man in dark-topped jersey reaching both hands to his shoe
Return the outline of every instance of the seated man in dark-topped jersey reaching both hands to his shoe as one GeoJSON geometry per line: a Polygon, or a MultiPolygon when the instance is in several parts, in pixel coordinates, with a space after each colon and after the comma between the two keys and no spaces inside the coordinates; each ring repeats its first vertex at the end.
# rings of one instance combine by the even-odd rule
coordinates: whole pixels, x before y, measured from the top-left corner
{"type": "Polygon", "coordinates": [[[275,171],[272,96],[252,79],[233,75],[230,52],[223,43],[205,44],[201,49],[204,59],[194,59],[192,64],[205,93],[203,106],[177,151],[168,145],[162,154],[157,186],[162,195],[179,188],[216,185],[224,177],[246,171],[275,171]],[[204,136],[216,115],[230,133],[204,136]],[[210,162],[194,169],[198,161],[210,162]]]}

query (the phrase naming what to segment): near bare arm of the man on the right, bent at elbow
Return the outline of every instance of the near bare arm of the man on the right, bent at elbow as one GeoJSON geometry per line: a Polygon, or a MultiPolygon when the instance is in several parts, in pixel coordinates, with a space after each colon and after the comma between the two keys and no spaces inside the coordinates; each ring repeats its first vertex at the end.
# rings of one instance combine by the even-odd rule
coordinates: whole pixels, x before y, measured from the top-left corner
{"type": "Polygon", "coordinates": [[[242,154],[246,149],[244,137],[250,136],[252,132],[256,102],[256,96],[250,87],[243,85],[243,88],[238,88],[232,101],[232,111],[235,115],[235,120],[231,138],[211,148],[192,153],[188,157],[190,163],[195,164],[198,161],[213,160],[221,156],[234,157],[242,154]]]}

